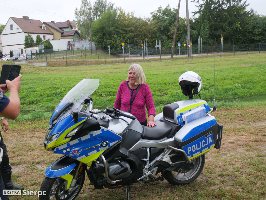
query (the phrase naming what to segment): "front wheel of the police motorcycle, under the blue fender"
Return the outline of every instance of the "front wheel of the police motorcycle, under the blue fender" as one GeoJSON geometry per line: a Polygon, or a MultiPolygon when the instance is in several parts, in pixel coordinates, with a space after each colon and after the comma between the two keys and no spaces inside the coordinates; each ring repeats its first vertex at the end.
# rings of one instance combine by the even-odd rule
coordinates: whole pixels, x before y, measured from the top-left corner
{"type": "Polygon", "coordinates": [[[45,195],[41,195],[39,200],[50,200],[55,198],[73,200],[75,199],[83,186],[85,180],[85,170],[82,170],[78,175],[76,185],[73,191],[65,190],[65,180],[61,178],[48,178],[45,177],[43,183],[41,184],[40,191],[46,191],[45,195]]]}

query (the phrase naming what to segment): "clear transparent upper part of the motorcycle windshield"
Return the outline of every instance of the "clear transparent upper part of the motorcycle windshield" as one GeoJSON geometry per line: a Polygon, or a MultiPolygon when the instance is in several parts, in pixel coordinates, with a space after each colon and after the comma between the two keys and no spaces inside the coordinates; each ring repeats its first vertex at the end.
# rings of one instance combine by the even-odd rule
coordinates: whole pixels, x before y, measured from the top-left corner
{"type": "Polygon", "coordinates": [[[99,79],[90,79],[90,77],[84,78],[64,96],[59,106],[68,102],[76,102],[81,105],[87,97],[98,89],[99,81],[99,79]]]}

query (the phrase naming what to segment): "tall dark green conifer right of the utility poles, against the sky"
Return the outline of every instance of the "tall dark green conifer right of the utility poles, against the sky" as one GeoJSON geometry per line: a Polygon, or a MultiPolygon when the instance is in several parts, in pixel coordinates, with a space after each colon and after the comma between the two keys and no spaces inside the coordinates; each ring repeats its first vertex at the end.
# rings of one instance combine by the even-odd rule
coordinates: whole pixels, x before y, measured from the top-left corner
{"type": "Polygon", "coordinates": [[[198,3],[198,11],[194,12],[197,32],[204,42],[213,43],[215,38],[223,38],[232,44],[234,41],[244,42],[248,37],[248,22],[252,16],[251,10],[246,10],[248,4],[243,0],[193,0],[198,3]]]}

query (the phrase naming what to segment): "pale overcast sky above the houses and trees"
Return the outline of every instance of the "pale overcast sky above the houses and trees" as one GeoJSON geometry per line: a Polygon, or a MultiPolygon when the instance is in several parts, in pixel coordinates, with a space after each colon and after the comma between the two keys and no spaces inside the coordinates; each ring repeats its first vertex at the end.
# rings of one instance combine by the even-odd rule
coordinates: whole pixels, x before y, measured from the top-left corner
{"type": "MultiPolygon", "coordinates": [[[[108,1],[108,0],[107,0],[108,1]]],[[[91,1],[93,5],[94,0],[91,1]]],[[[109,2],[109,1],[108,1],[109,2]]],[[[125,12],[134,11],[136,17],[151,17],[151,12],[156,11],[158,7],[165,8],[168,4],[171,8],[177,8],[178,0],[112,0],[117,7],[122,7],[125,12]]],[[[182,0],[180,3],[180,17],[186,17],[186,1],[182,0]]],[[[197,10],[196,4],[189,3],[189,17],[192,17],[191,12],[197,10]]],[[[265,0],[247,0],[250,3],[248,9],[254,9],[259,15],[266,15],[266,1],[265,0]]],[[[55,21],[63,22],[66,20],[72,21],[75,19],[74,10],[80,9],[81,1],[73,0],[0,0],[0,24],[6,24],[9,17],[28,16],[30,19],[39,19],[41,22],[55,21]],[[74,3],[76,2],[76,4],[74,3]]]]}

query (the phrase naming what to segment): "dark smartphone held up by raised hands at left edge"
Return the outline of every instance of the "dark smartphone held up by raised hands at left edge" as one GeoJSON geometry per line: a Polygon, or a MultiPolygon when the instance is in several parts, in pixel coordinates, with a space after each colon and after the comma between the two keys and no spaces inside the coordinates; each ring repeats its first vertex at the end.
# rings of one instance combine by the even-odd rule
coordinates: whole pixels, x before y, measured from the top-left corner
{"type": "Polygon", "coordinates": [[[2,65],[0,84],[6,84],[6,80],[14,80],[20,73],[21,65],[2,65]]]}

